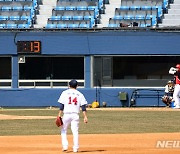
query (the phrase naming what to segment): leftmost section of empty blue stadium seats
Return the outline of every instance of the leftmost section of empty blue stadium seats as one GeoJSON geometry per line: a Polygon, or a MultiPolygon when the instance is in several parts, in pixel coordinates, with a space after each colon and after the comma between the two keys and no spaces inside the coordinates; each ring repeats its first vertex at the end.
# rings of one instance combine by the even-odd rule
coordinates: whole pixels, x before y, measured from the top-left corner
{"type": "Polygon", "coordinates": [[[31,28],[37,0],[0,0],[0,29],[31,28]]]}

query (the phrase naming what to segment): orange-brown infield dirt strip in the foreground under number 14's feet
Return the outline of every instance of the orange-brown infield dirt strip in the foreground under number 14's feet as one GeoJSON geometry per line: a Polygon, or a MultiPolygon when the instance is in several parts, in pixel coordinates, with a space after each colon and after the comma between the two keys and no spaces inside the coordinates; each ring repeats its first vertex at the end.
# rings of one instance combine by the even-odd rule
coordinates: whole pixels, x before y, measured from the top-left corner
{"type": "MultiPolygon", "coordinates": [[[[72,152],[72,135],[68,136],[72,152]]],[[[157,148],[157,141],[180,140],[180,133],[80,135],[79,153],[179,154],[180,147],[157,148]]],[[[60,135],[0,136],[1,154],[60,154],[60,135]]]]}

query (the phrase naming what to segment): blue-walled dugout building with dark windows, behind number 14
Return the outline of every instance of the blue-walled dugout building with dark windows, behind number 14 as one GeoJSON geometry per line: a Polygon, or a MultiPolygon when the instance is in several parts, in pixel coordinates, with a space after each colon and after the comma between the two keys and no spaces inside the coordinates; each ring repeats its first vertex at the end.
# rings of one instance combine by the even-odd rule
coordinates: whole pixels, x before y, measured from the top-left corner
{"type": "Polygon", "coordinates": [[[136,88],[163,89],[172,79],[168,70],[180,61],[179,40],[177,29],[1,30],[0,106],[57,106],[72,78],[89,103],[98,99],[100,105],[121,106],[120,91],[131,96],[136,88]],[[18,41],[39,52],[18,52],[18,41]]]}

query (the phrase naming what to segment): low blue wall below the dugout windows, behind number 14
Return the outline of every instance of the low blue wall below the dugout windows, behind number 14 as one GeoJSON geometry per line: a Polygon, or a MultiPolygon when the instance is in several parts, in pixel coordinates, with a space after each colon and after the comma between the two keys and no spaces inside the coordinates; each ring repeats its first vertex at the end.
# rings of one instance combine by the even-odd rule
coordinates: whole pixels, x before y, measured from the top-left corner
{"type": "MultiPolygon", "coordinates": [[[[0,106],[58,106],[60,93],[65,89],[0,89],[0,106]]],[[[109,107],[130,106],[130,100],[134,89],[132,88],[79,88],[87,101],[91,104],[97,99],[102,106],[106,102],[109,107]],[[97,92],[97,97],[96,97],[97,92]],[[127,101],[120,101],[119,92],[127,93],[127,101]]],[[[136,106],[164,106],[160,97],[163,92],[146,90],[136,99],[136,106]],[[148,94],[148,95],[147,95],[148,94]]]]}

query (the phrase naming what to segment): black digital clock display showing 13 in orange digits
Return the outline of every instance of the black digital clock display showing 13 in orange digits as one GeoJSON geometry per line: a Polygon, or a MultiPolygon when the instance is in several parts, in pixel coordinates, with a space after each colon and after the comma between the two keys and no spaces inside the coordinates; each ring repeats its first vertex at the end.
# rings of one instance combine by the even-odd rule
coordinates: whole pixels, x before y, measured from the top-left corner
{"type": "Polygon", "coordinates": [[[17,41],[17,53],[41,53],[41,41],[17,41]]]}

